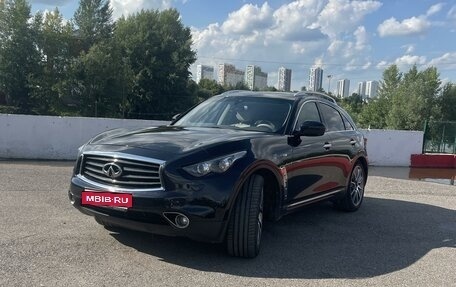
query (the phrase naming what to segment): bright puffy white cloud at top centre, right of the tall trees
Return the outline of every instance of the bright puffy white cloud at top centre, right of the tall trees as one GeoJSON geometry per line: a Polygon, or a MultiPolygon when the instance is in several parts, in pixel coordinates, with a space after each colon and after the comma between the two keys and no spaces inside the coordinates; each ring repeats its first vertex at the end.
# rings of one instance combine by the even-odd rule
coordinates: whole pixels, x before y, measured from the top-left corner
{"type": "Polygon", "coordinates": [[[245,34],[254,30],[261,30],[272,24],[272,8],[267,2],[263,6],[245,4],[241,9],[228,15],[228,19],[222,25],[222,31],[226,34],[245,34]]]}

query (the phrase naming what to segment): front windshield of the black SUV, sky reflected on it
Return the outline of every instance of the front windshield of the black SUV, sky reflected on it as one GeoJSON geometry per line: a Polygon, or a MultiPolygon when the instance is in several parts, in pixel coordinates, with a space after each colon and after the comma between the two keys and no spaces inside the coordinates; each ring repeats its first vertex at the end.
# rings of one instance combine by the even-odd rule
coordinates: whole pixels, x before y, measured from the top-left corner
{"type": "Polygon", "coordinates": [[[279,133],[293,101],[263,96],[217,96],[202,102],[174,125],[279,133]]]}

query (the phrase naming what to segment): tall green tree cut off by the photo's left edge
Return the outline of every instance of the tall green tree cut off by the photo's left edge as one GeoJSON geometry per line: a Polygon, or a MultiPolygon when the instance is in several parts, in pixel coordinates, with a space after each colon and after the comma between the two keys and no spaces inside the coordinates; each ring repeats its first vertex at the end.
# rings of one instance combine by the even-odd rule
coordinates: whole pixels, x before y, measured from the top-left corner
{"type": "Polygon", "coordinates": [[[31,76],[37,72],[37,35],[25,0],[0,2],[0,90],[6,102],[29,112],[31,76]]]}

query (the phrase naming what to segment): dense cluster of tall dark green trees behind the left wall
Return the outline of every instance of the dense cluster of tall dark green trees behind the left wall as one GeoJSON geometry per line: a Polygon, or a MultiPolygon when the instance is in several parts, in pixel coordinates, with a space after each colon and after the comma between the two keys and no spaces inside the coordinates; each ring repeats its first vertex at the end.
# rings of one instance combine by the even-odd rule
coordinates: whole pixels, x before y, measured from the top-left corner
{"type": "Polygon", "coordinates": [[[38,114],[167,119],[201,95],[191,45],[173,9],[114,22],[108,0],[80,0],[66,21],[57,8],[32,17],[26,0],[1,1],[0,102],[38,114]]]}

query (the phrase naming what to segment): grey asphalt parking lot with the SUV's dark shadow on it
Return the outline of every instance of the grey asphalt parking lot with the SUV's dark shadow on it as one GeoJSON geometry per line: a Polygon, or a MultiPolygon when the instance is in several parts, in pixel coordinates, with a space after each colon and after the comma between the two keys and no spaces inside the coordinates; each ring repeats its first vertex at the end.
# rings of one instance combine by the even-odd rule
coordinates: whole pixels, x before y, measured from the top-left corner
{"type": "Polygon", "coordinates": [[[71,170],[0,161],[0,286],[456,286],[456,187],[401,169],[371,168],[358,212],[321,203],[267,224],[252,260],[108,231],[70,205],[71,170]]]}

